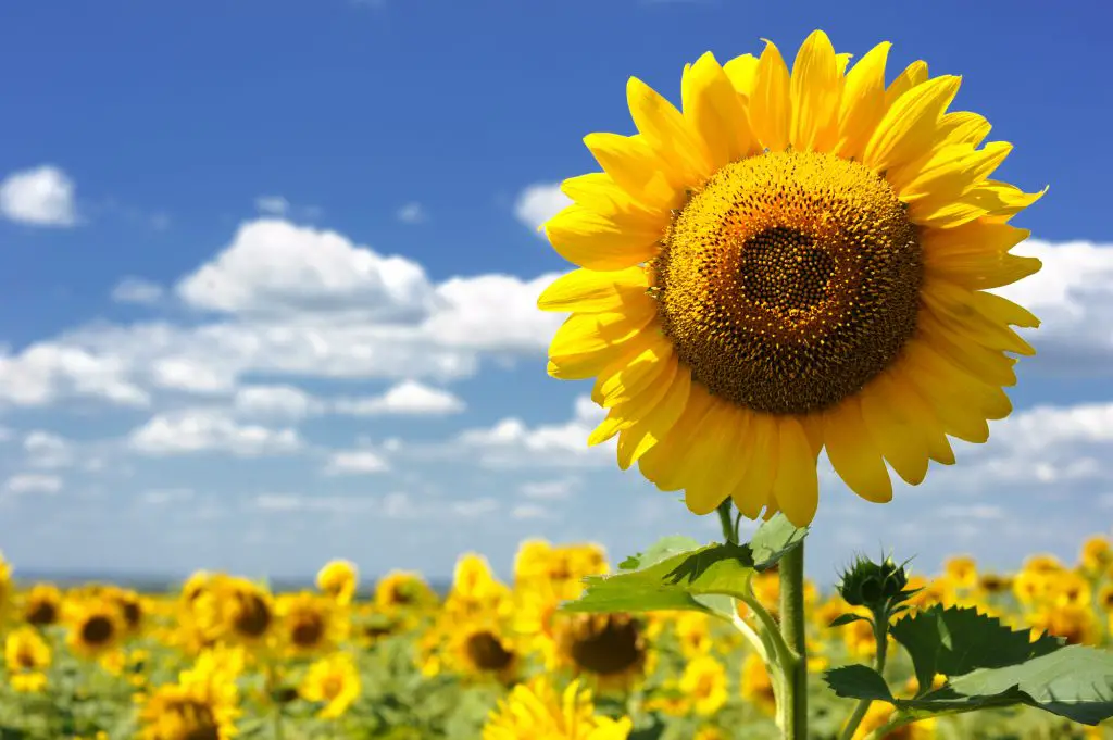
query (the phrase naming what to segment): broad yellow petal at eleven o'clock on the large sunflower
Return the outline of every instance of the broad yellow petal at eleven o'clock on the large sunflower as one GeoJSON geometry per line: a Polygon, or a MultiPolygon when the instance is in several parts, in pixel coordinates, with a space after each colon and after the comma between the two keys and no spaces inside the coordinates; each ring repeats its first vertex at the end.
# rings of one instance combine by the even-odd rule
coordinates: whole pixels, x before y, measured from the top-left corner
{"type": "Polygon", "coordinates": [[[718,169],[750,154],[754,146],[742,98],[711,52],[684,70],[683,115],[718,169]]]}

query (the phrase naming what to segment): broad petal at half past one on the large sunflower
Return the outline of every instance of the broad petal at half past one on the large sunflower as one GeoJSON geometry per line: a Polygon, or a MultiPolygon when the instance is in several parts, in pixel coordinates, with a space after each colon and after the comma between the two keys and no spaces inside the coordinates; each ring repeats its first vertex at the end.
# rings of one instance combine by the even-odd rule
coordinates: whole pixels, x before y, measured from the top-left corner
{"type": "Polygon", "coordinates": [[[866,145],[863,164],[881,172],[929,151],[936,125],[961,82],[955,76],[937,77],[897,98],[866,145]]]}

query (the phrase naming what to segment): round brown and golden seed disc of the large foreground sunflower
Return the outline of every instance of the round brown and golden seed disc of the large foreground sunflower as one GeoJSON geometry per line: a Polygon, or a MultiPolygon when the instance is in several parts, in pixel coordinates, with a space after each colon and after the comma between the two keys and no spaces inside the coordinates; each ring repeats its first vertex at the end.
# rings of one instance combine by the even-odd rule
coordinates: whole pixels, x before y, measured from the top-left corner
{"type": "Polygon", "coordinates": [[[923,260],[893,188],[833,155],[727,165],[672,219],[650,265],[692,377],[754,411],[834,406],[916,328],[923,260]]]}

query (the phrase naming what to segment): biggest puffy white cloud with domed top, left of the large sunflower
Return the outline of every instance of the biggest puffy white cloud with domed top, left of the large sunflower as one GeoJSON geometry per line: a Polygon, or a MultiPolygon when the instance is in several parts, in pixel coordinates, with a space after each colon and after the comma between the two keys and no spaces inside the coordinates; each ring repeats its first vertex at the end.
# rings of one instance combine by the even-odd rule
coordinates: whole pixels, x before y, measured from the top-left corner
{"type": "Polygon", "coordinates": [[[244,314],[347,309],[376,316],[422,312],[432,296],[425,272],[383,257],[336,231],[278,219],[248,221],[215,260],[177,286],[191,306],[244,314]]]}

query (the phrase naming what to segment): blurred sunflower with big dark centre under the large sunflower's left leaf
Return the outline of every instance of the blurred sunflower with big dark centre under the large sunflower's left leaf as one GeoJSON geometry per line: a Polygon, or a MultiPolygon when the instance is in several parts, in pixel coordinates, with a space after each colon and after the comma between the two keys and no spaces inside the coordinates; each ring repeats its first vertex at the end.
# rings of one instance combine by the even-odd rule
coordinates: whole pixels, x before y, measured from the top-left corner
{"type": "Polygon", "coordinates": [[[644,628],[629,614],[572,614],[553,629],[560,663],[600,689],[628,688],[649,672],[644,628]]]}

